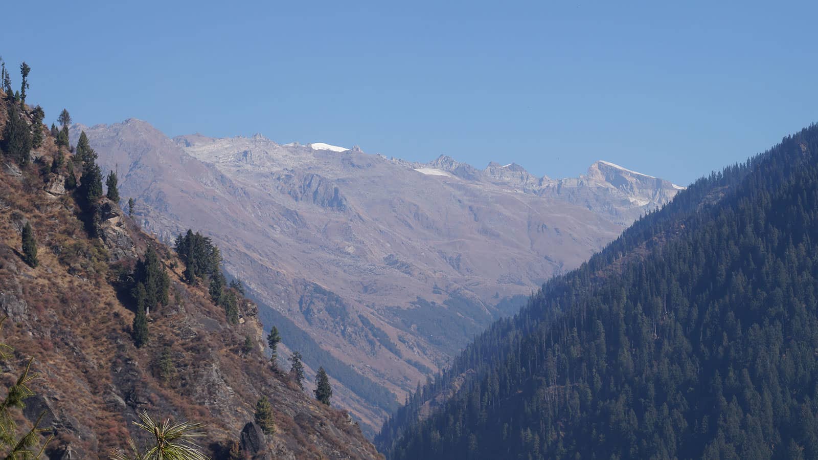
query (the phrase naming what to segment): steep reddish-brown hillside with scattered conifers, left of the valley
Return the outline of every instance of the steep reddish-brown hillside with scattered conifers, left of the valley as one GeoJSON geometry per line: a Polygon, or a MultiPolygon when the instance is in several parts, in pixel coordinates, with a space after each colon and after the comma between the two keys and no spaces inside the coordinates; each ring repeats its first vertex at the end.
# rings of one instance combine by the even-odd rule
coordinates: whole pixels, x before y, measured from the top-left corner
{"type": "Polygon", "coordinates": [[[213,458],[380,457],[347,413],[273,369],[257,307],[240,283],[227,285],[218,250],[197,246],[180,259],[142,232],[119,208],[127,197],[115,193],[115,174],[102,174],[82,138],[69,145],[68,112],[62,129],[49,130],[43,110],[8,88],[0,341],[14,353],[0,372],[10,382],[34,359],[35,395],[19,422],[43,414],[49,458],[107,458],[129,436],[142,446],[148,437],[132,422],[144,422],[143,412],[201,423],[199,442],[213,458]],[[194,272],[202,248],[196,267],[205,268],[194,272]]]}

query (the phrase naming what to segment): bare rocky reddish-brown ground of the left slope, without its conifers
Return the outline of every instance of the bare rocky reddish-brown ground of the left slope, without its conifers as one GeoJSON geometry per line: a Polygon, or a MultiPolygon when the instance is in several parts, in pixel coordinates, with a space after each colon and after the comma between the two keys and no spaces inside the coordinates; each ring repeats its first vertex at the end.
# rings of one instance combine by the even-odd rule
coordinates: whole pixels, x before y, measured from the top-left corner
{"type": "Polygon", "coordinates": [[[88,237],[77,201],[62,187],[65,166],[56,174],[43,167],[56,151],[47,136],[32,164],[19,167],[3,156],[0,170],[0,312],[10,318],[2,341],[16,349],[2,373],[11,378],[34,357],[37,395],[25,415],[46,411],[45,425],[56,435],[51,458],[106,458],[125,447],[129,433],[138,435],[131,422],[142,410],[204,423],[214,458],[234,442],[254,458],[379,458],[346,413],[272,372],[254,303],[242,300],[240,323],[229,324],[205,287],[182,282],[173,251],[104,198],[99,237],[88,237]],[[34,228],[36,268],[20,256],[25,223],[34,228]],[[151,310],[151,338],[137,349],[133,305],[119,282],[148,246],[169,273],[170,295],[151,310]],[[246,426],[262,395],[272,403],[272,436],[246,426]]]}

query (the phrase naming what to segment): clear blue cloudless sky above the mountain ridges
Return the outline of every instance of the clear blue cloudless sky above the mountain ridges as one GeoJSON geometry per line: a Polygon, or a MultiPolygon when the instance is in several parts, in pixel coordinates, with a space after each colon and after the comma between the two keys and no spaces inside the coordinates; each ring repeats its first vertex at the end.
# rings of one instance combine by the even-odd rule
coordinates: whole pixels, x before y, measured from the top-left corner
{"type": "Polygon", "coordinates": [[[443,3],[7,2],[0,55],[49,122],[555,178],[605,159],[689,183],[818,120],[816,2],[443,3]]]}

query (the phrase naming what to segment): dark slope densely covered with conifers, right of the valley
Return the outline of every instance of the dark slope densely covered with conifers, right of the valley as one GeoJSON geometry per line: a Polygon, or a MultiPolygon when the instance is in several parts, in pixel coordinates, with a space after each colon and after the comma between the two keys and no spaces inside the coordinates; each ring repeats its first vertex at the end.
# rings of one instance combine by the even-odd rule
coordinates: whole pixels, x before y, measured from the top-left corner
{"type": "Polygon", "coordinates": [[[419,388],[389,458],[818,458],[818,126],[701,178],[419,388]]]}

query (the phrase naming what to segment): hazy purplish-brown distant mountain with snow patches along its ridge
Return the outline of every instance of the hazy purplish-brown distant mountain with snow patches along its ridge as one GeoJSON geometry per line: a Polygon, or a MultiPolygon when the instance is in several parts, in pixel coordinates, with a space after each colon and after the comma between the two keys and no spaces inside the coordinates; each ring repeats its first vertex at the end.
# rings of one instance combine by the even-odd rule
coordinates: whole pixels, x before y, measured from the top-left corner
{"type": "Polygon", "coordinates": [[[140,120],[84,129],[142,225],[187,228],[222,249],[269,327],[336,382],[368,426],[513,313],[681,187],[603,161],[586,176],[519,165],[429,164],[325,143],[169,139],[140,120]],[[306,332],[306,333],[305,333],[306,332]]]}

